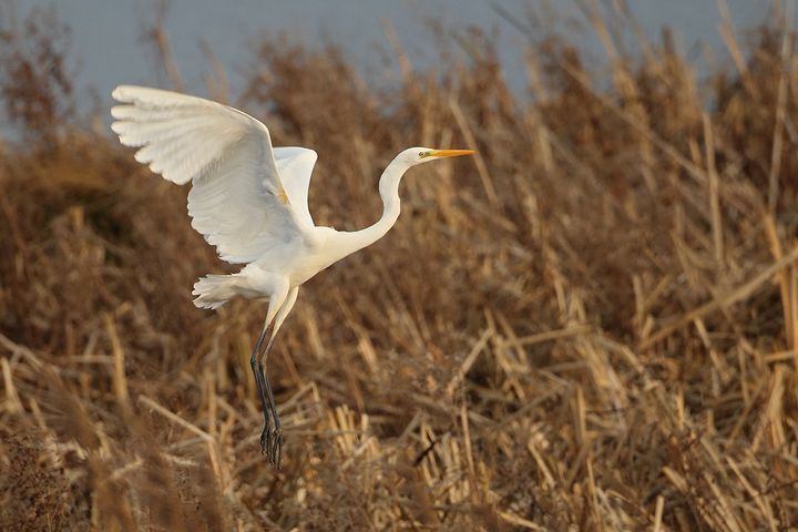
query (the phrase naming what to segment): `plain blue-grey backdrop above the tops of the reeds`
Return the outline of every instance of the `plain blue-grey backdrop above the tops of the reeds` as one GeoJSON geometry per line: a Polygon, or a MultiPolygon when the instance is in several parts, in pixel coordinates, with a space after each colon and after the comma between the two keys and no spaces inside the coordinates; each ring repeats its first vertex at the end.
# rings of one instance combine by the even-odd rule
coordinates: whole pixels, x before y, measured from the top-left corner
{"type": "MultiPolygon", "coordinates": [[[[770,7],[768,0],[727,2],[739,30],[761,22],[770,7]]],[[[120,83],[165,85],[166,80],[157,74],[152,50],[142,44],[142,35],[162,3],[160,0],[27,0],[17,1],[17,11],[18,17],[23,18],[31,7],[55,7],[59,18],[72,30],[79,89],[93,88],[108,99],[111,89],[120,83]]],[[[678,35],[682,49],[699,64],[707,64],[704,53],[707,50],[715,61],[727,61],[715,0],[630,0],[628,3],[653,40],[658,40],[661,29],[668,25],[678,35]],[[697,42],[706,44],[705,49],[697,47],[697,42]]],[[[473,24],[498,30],[508,79],[515,89],[522,89],[524,37],[497,12],[495,6],[519,20],[525,20],[528,13],[556,12],[559,22],[554,28],[569,33],[589,53],[603,57],[587,27],[580,29],[567,22],[569,19],[583,20],[573,0],[171,0],[166,6],[165,27],[186,90],[201,94],[205,92],[202,76],[207,62],[200,42],[205,41],[224,63],[235,93],[247,78],[250,43],[260,34],[284,33],[311,45],[334,42],[361,68],[369,81],[386,82],[396,75],[396,65],[380,61],[379,51],[388,49],[382,20],[390,21],[402,47],[420,66],[436,59],[434,37],[426,23],[429,20],[449,28],[473,24]]],[[[546,29],[548,25],[536,29],[533,38],[543,37],[546,29]]]]}

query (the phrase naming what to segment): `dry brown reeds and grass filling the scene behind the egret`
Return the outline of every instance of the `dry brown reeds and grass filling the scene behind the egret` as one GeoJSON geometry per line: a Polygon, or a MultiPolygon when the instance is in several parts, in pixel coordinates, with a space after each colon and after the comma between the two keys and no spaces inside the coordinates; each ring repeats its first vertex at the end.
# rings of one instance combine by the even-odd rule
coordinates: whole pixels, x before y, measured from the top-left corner
{"type": "Polygon", "coordinates": [[[477,33],[444,78],[380,94],[335,52],[254,58],[241,103],[318,151],[317,223],[376,219],[405,145],[480,151],[412,171],[389,236],[303,289],[270,359],[279,471],[247,364],[265,308],[191,305],[225,266],[185,191],[59,102],[9,100],[59,91],[3,91],[44,114],[22,117],[33,147],[0,147],[0,529],[795,525],[792,35],[763,29],[702,86],[671,47],[634,63],[594,24],[612,86],[551,40],[534,105],[477,33]]]}

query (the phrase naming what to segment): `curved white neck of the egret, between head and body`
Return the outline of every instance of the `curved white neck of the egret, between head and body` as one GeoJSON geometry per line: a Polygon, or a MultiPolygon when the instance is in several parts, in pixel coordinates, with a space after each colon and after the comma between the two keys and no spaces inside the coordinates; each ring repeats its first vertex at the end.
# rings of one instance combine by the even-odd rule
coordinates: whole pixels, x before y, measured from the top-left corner
{"type": "Polygon", "coordinates": [[[393,227],[397,218],[399,218],[400,201],[399,201],[399,182],[405,172],[409,168],[408,164],[393,160],[382,172],[379,181],[379,193],[382,198],[382,216],[376,224],[360,231],[339,233],[341,241],[339,242],[342,256],[350,255],[366,246],[370,246],[375,242],[382,238],[388,231],[393,227]]]}

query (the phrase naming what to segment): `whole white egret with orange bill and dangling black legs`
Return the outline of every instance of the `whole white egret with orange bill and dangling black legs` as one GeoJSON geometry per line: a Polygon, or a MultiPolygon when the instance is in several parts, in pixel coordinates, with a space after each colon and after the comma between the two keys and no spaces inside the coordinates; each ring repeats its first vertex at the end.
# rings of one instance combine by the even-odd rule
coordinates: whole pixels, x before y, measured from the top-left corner
{"type": "Polygon", "coordinates": [[[382,172],[382,216],[354,232],[317,227],[308,211],[308,186],[317,154],[305,147],[273,147],[266,126],[236,109],[176,92],[121,85],[111,127],[135,158],[164,178],[192,182],[192,227],[222,259],[245,264],[237,274],[206,275],[194,285],[194,305],[218,308],[235,296],[268,299],[263,331],[249,362],[264,415],[262,451],[279,466],[283,431],[264,361],[299,286],[332,263],[381,238],[399,217],[399,182],[411,166],[474,153],[410,147],[382,172]],[[272,327],[266,349],[260,352],[272,327]],[[269,421],[274,418],[274,430],[269,421]]]}

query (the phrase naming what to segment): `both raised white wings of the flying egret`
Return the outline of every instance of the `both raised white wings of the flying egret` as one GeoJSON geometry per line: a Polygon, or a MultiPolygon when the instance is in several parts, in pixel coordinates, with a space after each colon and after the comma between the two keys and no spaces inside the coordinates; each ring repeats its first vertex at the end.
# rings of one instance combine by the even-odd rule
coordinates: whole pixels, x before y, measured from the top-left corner
{"type": "Polygon", "coordinates": [[[123,103],[111,110],[120,141],[164,178],[192,181],[192,226],[224,260],[253,262],[313,228],[316,152],[273,150],[264,124],[209,100],[131,85],[112,95],[123,103]]]}

